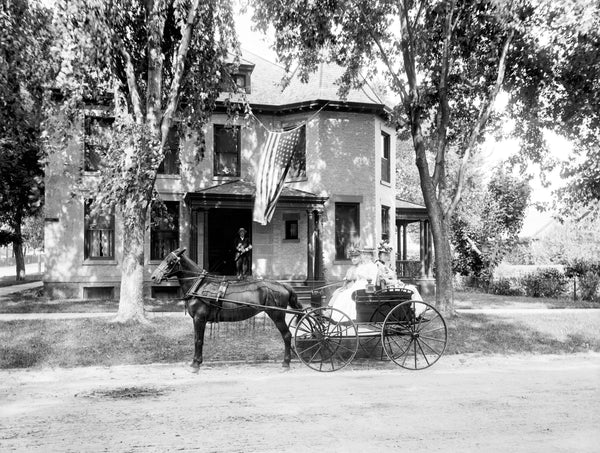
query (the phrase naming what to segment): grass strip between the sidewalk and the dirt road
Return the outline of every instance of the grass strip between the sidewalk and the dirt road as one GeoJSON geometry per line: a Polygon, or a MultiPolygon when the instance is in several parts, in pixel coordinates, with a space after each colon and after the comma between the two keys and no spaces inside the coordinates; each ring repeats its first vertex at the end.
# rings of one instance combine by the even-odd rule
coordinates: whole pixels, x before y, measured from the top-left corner
{"type": "MultiPolygon", "coordinates": [[[[557,317],[541,324],[491,315],[447,319],[446,354],[556,354],[600,351],[600,317],[589,324],[557,317]],[[561,320],[556,332],[547,327],[561,320]],[[540,329],[543,324],[544,328],[540,329]]],[[[193,356],[189,317],[154,318],[150,325],[116,324],[106,318],[18,320],[2,323],[0,368],[189,362],[193,356]]],[[[209,325],[204,360],[281,361],[283,342],[268,319],[209,325]]]]}

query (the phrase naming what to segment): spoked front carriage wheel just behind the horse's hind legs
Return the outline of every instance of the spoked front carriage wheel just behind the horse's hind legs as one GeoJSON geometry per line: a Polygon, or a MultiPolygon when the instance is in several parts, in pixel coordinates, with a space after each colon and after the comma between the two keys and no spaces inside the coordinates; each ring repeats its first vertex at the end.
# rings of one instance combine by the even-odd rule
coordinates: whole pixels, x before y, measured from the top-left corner
{"type": "Polygon", "coordinates": [[[295,329],[296,355],[313,370],[341,370],[352,362],[358,351],[356,325],[335,308],[321,307],[309,311],[295,329]]]}

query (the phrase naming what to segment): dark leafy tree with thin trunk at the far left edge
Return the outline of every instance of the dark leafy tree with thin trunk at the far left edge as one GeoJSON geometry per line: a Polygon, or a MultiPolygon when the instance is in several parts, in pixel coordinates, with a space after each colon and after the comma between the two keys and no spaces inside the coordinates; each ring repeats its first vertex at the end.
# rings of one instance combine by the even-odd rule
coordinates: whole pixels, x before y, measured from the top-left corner
{"type": "Polygon", "coordinates": [[[51,77],[50,13],[28,0],[0,4],[0,245],[13,243],[22,278],[24,219],[43,204],[42,105],[51,77]]]}

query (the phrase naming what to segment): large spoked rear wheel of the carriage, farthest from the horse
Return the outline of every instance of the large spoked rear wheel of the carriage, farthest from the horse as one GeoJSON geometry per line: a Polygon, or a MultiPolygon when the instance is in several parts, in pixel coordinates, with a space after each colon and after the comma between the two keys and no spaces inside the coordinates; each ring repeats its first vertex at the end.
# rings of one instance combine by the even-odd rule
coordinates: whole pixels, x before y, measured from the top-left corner
{"type": "Polygon", "coordinates": [[[381,342],[386,355],[397,365],[422,370],[437,362],[446,350],[446,322],[431,305],[408,300],[386,316],[381,342]]]}

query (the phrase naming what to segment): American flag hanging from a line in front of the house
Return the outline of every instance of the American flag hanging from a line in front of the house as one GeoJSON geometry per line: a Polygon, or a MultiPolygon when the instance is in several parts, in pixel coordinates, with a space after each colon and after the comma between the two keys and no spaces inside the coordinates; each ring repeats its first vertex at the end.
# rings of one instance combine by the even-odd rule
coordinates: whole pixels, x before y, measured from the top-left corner
{"type": "Polygon", "coordinates": [[[256,173],[253,219],[261,225],[271,221],[292,157],[300,143],[302,127],[291,131],[269,131],[256,173]]]}

